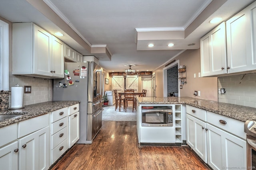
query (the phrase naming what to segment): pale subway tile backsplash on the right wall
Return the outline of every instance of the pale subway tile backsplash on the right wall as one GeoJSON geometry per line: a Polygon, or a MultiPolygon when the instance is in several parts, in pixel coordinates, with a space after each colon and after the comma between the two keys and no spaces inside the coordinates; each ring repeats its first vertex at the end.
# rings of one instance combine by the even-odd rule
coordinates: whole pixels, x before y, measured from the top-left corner
{"type": "Polygon", "coordinates": [[[218,94],[219,102],[256,107],[256,73],[219,77],[218,88],[226,89],[218,94]]]}

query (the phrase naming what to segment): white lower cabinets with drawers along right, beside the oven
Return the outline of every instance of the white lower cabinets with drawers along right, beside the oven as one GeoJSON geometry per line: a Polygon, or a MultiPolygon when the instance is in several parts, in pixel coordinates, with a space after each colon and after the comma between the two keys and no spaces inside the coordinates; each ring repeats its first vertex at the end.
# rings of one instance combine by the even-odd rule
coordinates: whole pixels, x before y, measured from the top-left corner
{"type": "Polygon", "coordinates": [[[205,163],[214,170],[246,167],[242,122],[192,106],[186,112],[187,144],[205,163]]]}

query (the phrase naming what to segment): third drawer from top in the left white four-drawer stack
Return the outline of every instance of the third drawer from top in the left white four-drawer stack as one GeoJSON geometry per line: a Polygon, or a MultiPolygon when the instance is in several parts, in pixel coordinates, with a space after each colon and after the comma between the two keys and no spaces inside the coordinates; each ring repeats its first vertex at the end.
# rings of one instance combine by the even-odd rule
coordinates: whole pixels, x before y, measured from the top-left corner
{"type": "Polygon", "coordinates": [[[68,138],[68,127],[64,127],[54,135],[52,135],[52,145],[51,149],[57,147],[60,143],[62,143],[65,139],[68,138]]]}

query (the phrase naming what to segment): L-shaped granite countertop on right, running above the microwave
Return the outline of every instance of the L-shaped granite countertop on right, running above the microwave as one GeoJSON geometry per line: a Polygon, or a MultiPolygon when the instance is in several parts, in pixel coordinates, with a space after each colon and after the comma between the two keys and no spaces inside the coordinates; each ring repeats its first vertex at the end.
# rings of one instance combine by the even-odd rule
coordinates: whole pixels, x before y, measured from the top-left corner
{"type": "Polygon", "coordinates": [[[256,121],[256,108],[189,97],[137,97],[138,104],[187,104],[240,121],[256,121]]]}

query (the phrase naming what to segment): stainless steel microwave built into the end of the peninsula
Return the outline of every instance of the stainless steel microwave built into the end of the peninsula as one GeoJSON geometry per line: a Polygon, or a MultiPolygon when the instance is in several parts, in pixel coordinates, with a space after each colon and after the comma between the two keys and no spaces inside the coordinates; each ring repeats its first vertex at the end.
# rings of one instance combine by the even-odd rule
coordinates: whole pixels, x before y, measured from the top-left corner
{"type": "Polygon", "coordinates": [[[142,126],[173,126],[171,107],[143,107],[142,126]]]}

